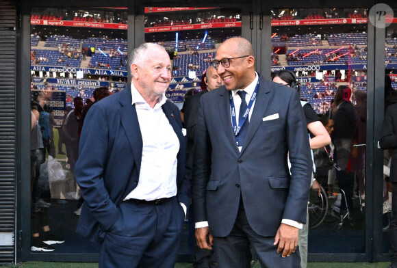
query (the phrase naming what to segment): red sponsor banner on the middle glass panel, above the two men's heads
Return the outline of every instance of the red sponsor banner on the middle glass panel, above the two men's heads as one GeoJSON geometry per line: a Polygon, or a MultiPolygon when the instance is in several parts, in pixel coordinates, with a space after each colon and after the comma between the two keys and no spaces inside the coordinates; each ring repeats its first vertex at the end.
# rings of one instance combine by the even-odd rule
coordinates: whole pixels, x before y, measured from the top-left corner
{"type": "Polygon", "coordinates": [[[145,34],[158,33],[163,31],[184,31],[192,29],[211,29],[211,28],[229,28],[241,27],[241,21],[234,21],[230,23],[201,23],[201,24],[187,24],[187,25],[170,25],[162,27],[148,27],[144,28],[145,34]]]}

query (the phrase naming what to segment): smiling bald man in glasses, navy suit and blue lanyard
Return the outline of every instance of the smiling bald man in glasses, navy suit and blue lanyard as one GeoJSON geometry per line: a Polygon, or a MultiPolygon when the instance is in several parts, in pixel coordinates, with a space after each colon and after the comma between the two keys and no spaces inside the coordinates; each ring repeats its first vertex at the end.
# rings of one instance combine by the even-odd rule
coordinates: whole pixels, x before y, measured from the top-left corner
{"type": "Polygon", "coordinates": [[[221,44],[213,66],[225,86],[200,101],[192,172],[197,243],[210,249],[214,242],[221,268],[250,267],[250,245],[261,267],[299,267],[312,163],[298,94],[259,78],[244,38],[221,44]]]}

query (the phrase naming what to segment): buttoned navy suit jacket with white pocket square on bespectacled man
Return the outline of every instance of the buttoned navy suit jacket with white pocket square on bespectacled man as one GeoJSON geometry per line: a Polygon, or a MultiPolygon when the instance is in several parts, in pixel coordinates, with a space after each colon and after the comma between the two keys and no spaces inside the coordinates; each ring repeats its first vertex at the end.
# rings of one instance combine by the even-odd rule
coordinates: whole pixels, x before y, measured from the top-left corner
{"type": "Polygon", "coordinates": [[[241,152],[229,96],[222,86],[201,97],[192,174],[195,221],[208,221],[216,237],[229,235],[241,195],[248,222],[259,235],[276,235],[281,219],[305,223],[312,163],[296,90],[261,79],[241,152]],[[274,114],[279,118],[263,120],[274,114]]]}

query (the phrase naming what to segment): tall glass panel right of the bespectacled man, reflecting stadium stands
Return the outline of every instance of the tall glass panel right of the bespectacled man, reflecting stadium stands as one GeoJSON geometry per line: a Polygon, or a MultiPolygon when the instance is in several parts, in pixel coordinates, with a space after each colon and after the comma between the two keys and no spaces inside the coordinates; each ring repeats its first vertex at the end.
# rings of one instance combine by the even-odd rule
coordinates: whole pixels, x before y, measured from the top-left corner
{"type": "Polygon", "coordinates": [[[272,10],[272,75],[296,76],[287,83],[296,80],[332,138],[314,150],[324,191],[310,195],[309,253],[365,252],[367,23],[365,9],[272,10]]]}

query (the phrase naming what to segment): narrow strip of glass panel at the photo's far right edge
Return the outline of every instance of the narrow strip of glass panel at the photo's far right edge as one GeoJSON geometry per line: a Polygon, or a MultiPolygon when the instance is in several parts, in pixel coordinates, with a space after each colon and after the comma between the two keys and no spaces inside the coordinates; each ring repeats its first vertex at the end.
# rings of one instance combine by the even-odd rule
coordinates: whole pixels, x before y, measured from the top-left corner
{"type": "MultiPolygon", "coordinates": [[[[392,103],[397,103],[397,9],[393,10],[394,18],[386,16],[385,28],[385,110],[392,103]]],[[[383,151],[383,165],[389,166],[392,150],[383,151]]],[[[380,175],[381,176],[381,175],[380,175]]],[[[389,252],[389,227],[392,217],[392,183],[383,174],[383,253],[389,252]]]]}

